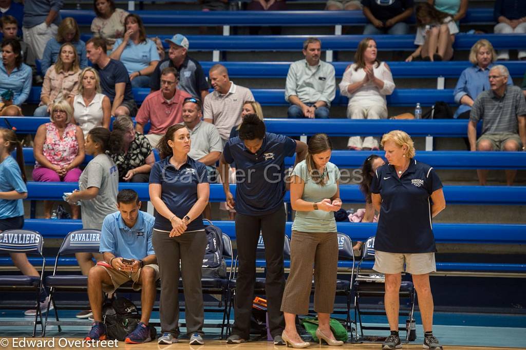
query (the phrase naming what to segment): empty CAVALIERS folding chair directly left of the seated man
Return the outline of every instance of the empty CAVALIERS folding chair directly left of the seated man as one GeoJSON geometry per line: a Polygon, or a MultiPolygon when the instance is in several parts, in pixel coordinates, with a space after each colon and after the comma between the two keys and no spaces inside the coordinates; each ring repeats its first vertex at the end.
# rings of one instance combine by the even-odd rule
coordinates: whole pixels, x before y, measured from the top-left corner
{"type": "Polygon", "coordinates": [[[44,330],[42,336],[46,335],[46,327],[48,325],[58,326],[58,332],[62,332],[61,325],[85,325],[92,324],[91,321],[60,321],[58,319],[58,308],[61,310],[89,310],[89,305],[79,305],[78,303],[55,303],[56,292],[83,292],[88,290],[88,276],[84,275],[62,275],[57,274],[58,262],[61,256],[73,255],[75,253],[98,253],[100,246],[100,231],[99,230],[77,230],[69,232],[60,245],[57,257],[55,259],[55,266],[53,268],[53,275],[47,276],[45,284],[50,288],[49,299],[55,305],[55,321],[48,321],[47,314],[44,321],[44,330]]]}

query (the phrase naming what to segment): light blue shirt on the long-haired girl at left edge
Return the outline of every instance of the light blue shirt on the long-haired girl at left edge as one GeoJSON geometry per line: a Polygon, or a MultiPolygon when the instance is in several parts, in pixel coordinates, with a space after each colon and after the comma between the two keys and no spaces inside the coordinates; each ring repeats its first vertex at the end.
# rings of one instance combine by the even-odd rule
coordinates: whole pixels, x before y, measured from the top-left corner
{"type": "MultiPolygon", "coordinates": [[[[0,163],[0,192],[16,191],[27,192],[27,187],[22,180],[22,172],[16,160],[8,156],[0,163]]],[[[0,220],[16,218],[24,215],[24,204],[22,199],[0,199],[0,220]]]]}

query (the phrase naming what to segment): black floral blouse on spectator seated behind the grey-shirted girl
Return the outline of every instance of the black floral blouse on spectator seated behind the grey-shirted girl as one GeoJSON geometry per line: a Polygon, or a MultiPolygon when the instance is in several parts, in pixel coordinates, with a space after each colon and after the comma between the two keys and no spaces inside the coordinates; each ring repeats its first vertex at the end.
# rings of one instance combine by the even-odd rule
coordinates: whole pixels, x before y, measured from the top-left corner
{"type": "Polygon", "coordinates": [[[122,179],[126,173],[132,169],[146,164],[146,158],[152,151],[150,141],[142,133],[135,132],[135,139],[130,142],[128,152],[110,153],[108,154],[117,169],[119,170],[119,177],[122,179]]]}

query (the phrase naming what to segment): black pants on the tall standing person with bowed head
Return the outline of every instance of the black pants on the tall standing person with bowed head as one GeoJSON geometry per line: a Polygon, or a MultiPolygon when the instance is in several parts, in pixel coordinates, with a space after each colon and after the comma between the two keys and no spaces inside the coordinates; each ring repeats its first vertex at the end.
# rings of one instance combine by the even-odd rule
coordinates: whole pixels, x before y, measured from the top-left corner
{"type": "Polygon", "coordinates": [[[260,231],[265,243],[267,262],[265,293],[270,334],[272,337],[281,335],[285,328],[285,319],[279,310],[285,289],[283,271],[285,221],[286,212],[282,205],[276,212],[267,215],[236,214],[239,272],[236,281],[235,322],[232,334],[237,334],[241,338],[248,340],[250,334],[250,315],[256,281],[256,249],[260,231]]]}

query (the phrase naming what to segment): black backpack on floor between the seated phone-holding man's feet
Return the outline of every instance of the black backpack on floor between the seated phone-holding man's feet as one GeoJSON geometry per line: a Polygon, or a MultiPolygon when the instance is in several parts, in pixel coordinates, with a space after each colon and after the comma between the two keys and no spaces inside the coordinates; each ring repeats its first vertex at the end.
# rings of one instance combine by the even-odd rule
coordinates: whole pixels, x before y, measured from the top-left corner
{"type": "MultiPolygon", "coordinates": [[[[107,301],[102,308],[103,322],[109,339],[124,342],[126,336],[135,331],[140,322],[137,306],[124,297],[107,301]]],[[[157,338],[155,327],[149,326],[151,339],[157,338]]]]}

